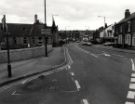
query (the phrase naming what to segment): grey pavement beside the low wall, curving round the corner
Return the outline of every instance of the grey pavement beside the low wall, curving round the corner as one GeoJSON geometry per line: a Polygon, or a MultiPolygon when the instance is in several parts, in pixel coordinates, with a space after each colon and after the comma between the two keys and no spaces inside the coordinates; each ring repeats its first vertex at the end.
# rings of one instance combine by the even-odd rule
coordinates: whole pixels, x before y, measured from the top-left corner
{"type": "Polygon", "coordinates": [[[45,71],[53,70],[65,64],[64,49],[54,48],[48,57],[33,58],[19,62],[12,62],[12,78],[8,78],[7,64],[0,64],[0,86],[27,78],[45,71]]]}

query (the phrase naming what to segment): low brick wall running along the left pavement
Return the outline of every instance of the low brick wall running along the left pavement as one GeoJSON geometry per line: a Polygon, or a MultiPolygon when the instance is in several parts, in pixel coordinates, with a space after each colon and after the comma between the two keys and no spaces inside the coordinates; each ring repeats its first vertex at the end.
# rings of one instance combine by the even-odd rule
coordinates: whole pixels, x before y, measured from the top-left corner
{"type": "MultiPolygon", "coordinates": [[[[48,46],[48,52],[52,50],[51,46],[48,46]]],[[[25,48],[10,50],[11,62],[27,60],[31,58],[41,57],[45,55],[44,47],[25,48]]],[[[0,63],[7,62],[7,51],[0,51],[0,63]]]]}

